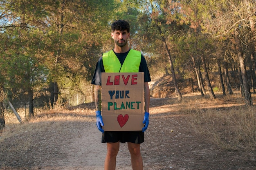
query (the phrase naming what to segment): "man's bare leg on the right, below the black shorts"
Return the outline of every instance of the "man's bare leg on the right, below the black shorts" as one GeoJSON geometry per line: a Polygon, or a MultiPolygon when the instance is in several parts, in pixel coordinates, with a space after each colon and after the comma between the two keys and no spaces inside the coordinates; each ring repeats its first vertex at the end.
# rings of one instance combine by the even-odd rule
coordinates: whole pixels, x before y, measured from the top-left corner
{"type": "Polygon", "coordinates": [[[128,142],[128,149],[131,155],[132,170],[143,170],[140,144],[133,144],[128,142]]]}

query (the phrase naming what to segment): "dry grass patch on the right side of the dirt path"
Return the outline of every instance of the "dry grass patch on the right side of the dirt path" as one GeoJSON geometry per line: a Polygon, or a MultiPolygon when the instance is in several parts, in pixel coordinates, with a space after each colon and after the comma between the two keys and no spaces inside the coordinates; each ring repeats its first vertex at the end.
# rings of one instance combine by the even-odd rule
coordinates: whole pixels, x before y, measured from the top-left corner
{"type": "Polygon", "coordinates": [[[255,150],[256,108],[246,106],[239,94],[219,95],[215,100],[189,97],[182,103],[195,130],[220,148],[255,150]]]}

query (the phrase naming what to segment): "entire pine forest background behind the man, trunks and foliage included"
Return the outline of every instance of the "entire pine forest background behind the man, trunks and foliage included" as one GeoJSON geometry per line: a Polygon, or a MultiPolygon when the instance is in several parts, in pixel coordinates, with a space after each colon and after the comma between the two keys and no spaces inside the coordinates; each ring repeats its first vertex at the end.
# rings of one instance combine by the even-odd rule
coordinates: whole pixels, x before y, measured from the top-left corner
{"type": "MultiPolygon", "coordinates": [[[[171,75],[177,99],[186,84],[211,99],[237,90],[253,105],[255,0],[2,0],[0,127],[8,103],[33,117],[36,107],[93,102],[91,78],[117,19],[130,23],[153,82],[171,75]]],[[[161,95],[151,86],[151,96],[161,95]]]]}

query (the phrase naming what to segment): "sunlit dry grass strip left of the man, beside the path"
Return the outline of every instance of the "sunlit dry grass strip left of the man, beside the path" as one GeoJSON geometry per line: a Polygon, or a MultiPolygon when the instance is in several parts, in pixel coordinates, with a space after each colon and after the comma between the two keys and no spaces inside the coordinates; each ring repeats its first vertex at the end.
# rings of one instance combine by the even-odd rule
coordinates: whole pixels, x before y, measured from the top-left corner
{"type": "MultiPolygon", "coordinates": [[[[17,109],[18,114],[22,119],[22,124],[19,123],[18,119],[11,110],[6,110],[5,112],[5,128],[0,131],[0,143],[4,139],[9,137],[14,137],[15,140],[23,140],[19,137],[20,134],[40,134],[43,131],[52,131],[53,133],[58,133],[63,130],[65,124],[70,122],[81,122],[81,121],[94,121],[94,111],[87,108],[74,108],[72,110],[67,109],[63,106],[58,105],[55,108],[36,108],[34,117],[29,118],[28,110],[24,108],[17,109]],[[92,115],[91,117],[85,117],[86,115],[92,115]],[[64,126],[63,126],[64,125],[64,126]],[[47,128],[50,127],[51,129],[47,128]]],[[[16,149],[26,150],[29,145],[33,144],[29,138],[24,139],[26,141],[19,142],[13,141],[13,143],[20,144],[16,149]]]]}

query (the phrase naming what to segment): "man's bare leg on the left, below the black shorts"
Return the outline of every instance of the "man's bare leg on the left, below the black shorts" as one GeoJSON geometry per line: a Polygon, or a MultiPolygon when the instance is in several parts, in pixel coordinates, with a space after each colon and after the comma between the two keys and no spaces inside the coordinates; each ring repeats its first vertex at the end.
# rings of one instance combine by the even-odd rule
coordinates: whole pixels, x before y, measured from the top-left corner
{"type": "Polygon", "coordinates": [[[116,158],[119,151],[119,142],[107,143],[107,155],[104,163],[104,170],[116,169],[116,158]]]}

